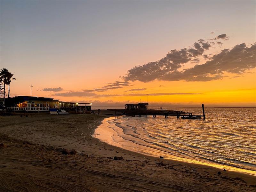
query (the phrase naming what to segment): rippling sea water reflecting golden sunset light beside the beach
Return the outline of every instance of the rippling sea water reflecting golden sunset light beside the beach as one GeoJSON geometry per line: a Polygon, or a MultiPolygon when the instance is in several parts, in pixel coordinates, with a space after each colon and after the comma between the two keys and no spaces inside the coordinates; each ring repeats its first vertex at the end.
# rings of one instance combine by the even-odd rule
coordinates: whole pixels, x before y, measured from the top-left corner
{"type": "MultiPolygon", "coordinates": [[[[202,114],[202,108],[163,108],[202,114]]],[[[256,175],[256,108],[205,108],[206,119],[105,119],[94,137],[151,156],[256,175]]]]}

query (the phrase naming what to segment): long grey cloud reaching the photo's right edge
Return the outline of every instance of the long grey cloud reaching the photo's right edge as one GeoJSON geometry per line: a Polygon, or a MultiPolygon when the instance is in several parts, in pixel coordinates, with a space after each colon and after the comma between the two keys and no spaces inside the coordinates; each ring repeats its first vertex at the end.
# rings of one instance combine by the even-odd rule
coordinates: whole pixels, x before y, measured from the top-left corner
{"type": "Polygon", "coordinates": [[[222,50],[202,65],[196,65],[182,72],[176,71],[167,74],[161,79],[166,81],[211,81],[223,78],[223,72],[241,74],[256,67],[255,52],[256,44],[246,47],[245,43],[242,43],[231,50],[222,50]]]}

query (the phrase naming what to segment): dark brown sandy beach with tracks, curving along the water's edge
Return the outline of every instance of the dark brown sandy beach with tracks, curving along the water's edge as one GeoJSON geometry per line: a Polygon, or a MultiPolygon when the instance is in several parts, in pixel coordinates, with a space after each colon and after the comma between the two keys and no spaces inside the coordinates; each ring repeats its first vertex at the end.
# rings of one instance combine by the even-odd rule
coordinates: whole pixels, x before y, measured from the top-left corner
{"type": "Polygon", "coordinates": [[[0,147],[0,191],[256,191],[255,176],[102,143],[91,135],[103,118],[0,116],[0,143],[5,146],[0,147]],[[77,154],[63,155],[56,151],[59,147],[77,154]]]}

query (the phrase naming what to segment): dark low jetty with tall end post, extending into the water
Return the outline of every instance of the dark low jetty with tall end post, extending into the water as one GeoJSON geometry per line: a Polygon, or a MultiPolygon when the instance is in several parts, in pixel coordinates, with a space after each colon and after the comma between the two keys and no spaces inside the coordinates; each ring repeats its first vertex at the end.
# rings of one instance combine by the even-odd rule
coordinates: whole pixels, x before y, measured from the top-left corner
{"type": "MultiPolygon", "coordinates": [[[[156,110],[156,109],[148,109],[148,110],[127,110],[127,109],[107,109],[109,112],[106,115],[114,115],[114,116],[138,116],[138,117],[147,117],[152,116],[155,118],[156,116],[164,116],[164,118],[168,118],[168,116],[176,116],[178,118],[183,119],[199,119],[203,117],[205,119],[204,114],[204,104],[202,104],[203,115],[192,115],[183,111],[175,111],[175,110],[156,110]]],[[[103,113],[105,114],[105,113],[103,113]]]]}

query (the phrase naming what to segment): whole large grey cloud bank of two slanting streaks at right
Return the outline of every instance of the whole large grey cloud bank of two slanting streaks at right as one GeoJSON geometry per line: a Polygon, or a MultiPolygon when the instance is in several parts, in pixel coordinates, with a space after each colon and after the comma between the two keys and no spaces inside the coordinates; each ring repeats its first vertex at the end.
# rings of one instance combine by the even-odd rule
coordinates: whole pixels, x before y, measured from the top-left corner
{"type": "MultiPolygon", "coordinates": [[[[226,34],[219,35],[216,38],[227,38],[226,34]]],[[[224,72],[242,74],[248,69],[256,67],[255,52],[256,44],[247,47],[245,43],[238,44],[232,49],[223,49],[219,54],[213,55],[211,60],[202,65],[195,65],[178,71],[181,64],[193,61],[193,57],[202,55],[204,50],[210,47],[203,40],[194,44],[195,48],[184,48],[181,50],[172,50],[165,58],[150,62],[145,65],[136,66],[122,78],[126,81],[149,82],[153,80],[164,81],[211,81],[224,77],[224,72]]],[[[204,58],[207,55],[203,55],[204,58]]]]}

